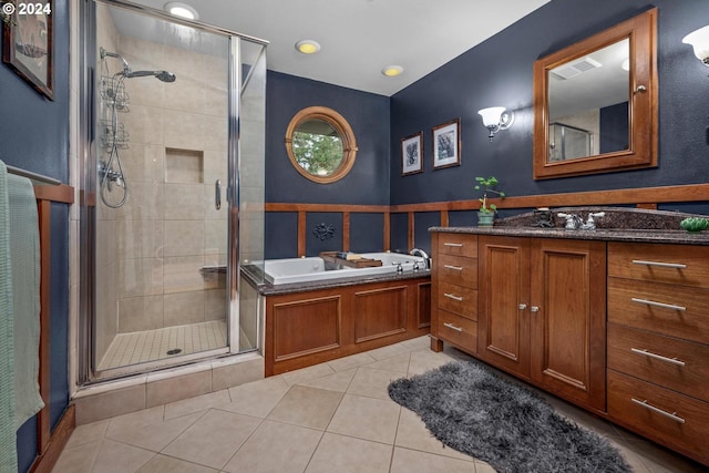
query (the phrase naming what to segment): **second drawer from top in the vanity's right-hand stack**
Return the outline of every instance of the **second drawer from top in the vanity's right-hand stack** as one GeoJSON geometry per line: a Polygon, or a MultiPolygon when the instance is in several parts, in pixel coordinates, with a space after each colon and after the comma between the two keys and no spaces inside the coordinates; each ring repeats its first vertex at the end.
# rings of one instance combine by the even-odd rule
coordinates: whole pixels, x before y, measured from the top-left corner
{"type": "Polygon", "coordinates": [[[608,321],[709,343],[709,289],[608,278],[608,321]]]}

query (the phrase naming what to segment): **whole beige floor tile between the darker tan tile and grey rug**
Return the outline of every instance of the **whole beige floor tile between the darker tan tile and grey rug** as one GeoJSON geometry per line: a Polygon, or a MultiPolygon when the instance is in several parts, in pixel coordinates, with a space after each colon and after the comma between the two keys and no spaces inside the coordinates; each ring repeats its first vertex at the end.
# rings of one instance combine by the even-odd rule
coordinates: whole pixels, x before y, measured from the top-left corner
{"type": "Polygon", "coordinates": [[[393,444],[400,410],[393,401],[345,394],[327,430],[393,444]]]}

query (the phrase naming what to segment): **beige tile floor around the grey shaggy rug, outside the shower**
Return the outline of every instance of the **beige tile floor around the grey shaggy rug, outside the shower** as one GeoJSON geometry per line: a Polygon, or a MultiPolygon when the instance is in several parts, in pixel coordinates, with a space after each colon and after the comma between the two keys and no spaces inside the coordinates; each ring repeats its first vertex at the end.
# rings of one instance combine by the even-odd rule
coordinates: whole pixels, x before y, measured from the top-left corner
{"type": "MultiPolygon", "coordinates": [[[[228,390],[80,425],[53,473],[493,473],[444,448],[387,394],[390,380],[452,359],[428,337],[228,390]]],[[[705,467],[563,401],[562,413],[608,438],[635,472],[705,467]]]]}

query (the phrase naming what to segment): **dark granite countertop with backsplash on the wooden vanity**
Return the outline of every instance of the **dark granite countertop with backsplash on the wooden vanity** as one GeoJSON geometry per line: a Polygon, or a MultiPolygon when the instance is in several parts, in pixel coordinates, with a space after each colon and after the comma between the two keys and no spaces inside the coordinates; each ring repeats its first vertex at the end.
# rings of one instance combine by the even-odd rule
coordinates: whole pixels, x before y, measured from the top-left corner
{"type": "Polygon", "coordinates": [[[538,215],[530,212],[496,219],[493,227],[431,227],[429,232],[709,246],[709,230],[689,233],[679,226],[685,218],[706,217],[703,215],[623,207],[564,207],[552,209],[552,228],[534,226],[538,215]],[[606,214],[596,219],[594,230],[566,229],[565,219],[556,216],[557,213],[572,213],[585,219],[589,212],[606,214]]]}

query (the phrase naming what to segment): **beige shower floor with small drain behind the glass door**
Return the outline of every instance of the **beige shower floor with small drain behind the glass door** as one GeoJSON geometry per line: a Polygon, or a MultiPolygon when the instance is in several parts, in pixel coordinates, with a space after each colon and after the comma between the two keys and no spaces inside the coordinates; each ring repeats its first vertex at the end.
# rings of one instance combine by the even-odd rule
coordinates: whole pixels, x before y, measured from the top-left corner
{"type": "Polygon", "coordinates": [[[109,347],[99,370],[223,348],[226,347],[226,338],[225,320],[120,333],[109,347]]]}

